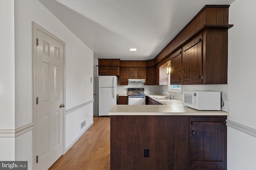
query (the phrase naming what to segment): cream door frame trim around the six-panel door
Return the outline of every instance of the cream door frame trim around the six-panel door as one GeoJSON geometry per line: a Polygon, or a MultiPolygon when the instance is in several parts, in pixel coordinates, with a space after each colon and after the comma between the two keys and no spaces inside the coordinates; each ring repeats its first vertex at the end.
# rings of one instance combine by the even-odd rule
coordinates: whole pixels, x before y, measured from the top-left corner
{"type": "MultiPolygon", "coordinates": [[[[63,103],[66,105],[66,43],[32,21],[32,49],[33,49],[33,57],[32,57],[32,63],[33,63],[33,71],[32,71],[32,82],[33,82],[33,92],[32,92],[32,106],[33,106],[33,122],[34,122],[34,129],[33,129],[33,151],[32,151],[32,169],[36,169],[36,30],[40,30],[46,35],[52,37],[59,43],[63,45],[63,103]]],[[[66,153],[66,109],[63,109],[63,154],[66,153]]]]}

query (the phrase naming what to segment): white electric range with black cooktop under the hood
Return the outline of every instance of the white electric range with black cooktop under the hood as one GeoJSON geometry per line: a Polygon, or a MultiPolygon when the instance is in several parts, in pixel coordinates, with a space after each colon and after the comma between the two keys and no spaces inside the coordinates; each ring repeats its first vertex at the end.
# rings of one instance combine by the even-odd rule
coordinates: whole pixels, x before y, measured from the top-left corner
{"type": "Polygon", "coordinates": [[[128,105],[145,105],[146,94],[144,88],[128,88],[128,105]]]}

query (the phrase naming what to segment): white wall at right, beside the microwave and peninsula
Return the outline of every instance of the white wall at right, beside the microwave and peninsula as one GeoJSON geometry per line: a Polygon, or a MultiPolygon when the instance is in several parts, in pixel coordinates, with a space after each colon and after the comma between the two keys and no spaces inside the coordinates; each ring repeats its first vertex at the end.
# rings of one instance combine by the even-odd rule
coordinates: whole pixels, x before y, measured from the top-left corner
{"type": "MultiPolygon", "coordinates": [[[[236,0],[229,8],[228,119],[256,131],[256,1],[236,0]]],[[[228,127],[228,170],[256,169],[256,138],[228,127]]]]}

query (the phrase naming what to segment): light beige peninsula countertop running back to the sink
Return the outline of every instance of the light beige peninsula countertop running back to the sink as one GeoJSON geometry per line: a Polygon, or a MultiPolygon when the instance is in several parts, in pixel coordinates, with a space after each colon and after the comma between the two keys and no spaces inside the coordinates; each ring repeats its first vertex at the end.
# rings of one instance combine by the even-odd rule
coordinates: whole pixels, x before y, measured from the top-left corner
{"type": "Polygon", "coordinates": [[[114,105],[108,115],[228,115],[225,111],[200,111],[184,106],[180,100],[157,100],[160,94],[148,94],[165,105],[114,105]]]}

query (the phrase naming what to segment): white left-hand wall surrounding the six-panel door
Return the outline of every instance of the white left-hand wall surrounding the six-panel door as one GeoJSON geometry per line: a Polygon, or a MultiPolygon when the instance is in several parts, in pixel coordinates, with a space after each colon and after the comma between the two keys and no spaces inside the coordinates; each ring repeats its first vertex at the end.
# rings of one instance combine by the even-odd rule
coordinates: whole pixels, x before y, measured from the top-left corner
{"type": "MultiPolygon", "coordinates": [[[[32,21],[35,21],[66,42],[66,109],[93,100],[93,83],[90,82],[90,77],[93,77],[93,52],[38,0],[0,0],[0,6],[0,129],[14,130],[14,128],[22,127],[33,122],[32,21]],[[2,100],[2,98],[5,100],[2,100]],[[7,107],[8,109],[5,109],[7,107]],[[2,120],[4,121],[2,122],[2,120]]],[[[75,140],[76,137],[74,134],[78,137],[84,132],[84,129],[88,129],[93,123],[92,108],[92,104],[89,104],[77,109],[74,113],[69,113],[66,118],[66,131],[69,132],[66,133],[67,139],[75,140]],[[88,115],[87,117],[86,113],[88,115]],[[86,119],[87,126],[83,129],[74,129],[74,126],[80,126],[81,122],[77,119],[79,116],[86,119]],[[72,121],[70,121],[71,119],[72,121]],[[73,131],[71,137],[69,136],[71,134],[70,129],[68,129],[69,127],[72,127],[73,131]]],[[[0,160],[14,160],[15,149],[15,160],[28,160],[28,169],[31,170],[33,160],[32,131],[28,131],[12,139],[12,142],[6,141],[8,138],[0,139],[0,160]]]]}

